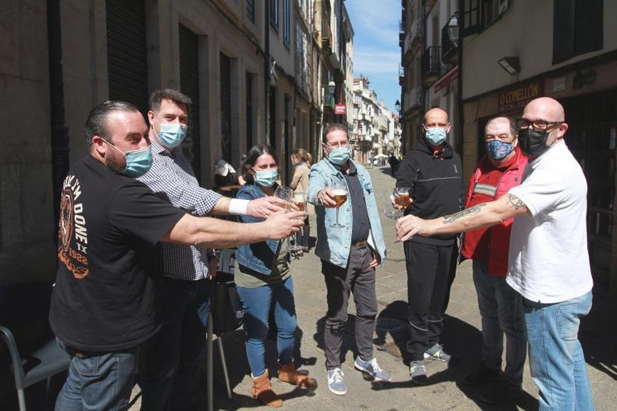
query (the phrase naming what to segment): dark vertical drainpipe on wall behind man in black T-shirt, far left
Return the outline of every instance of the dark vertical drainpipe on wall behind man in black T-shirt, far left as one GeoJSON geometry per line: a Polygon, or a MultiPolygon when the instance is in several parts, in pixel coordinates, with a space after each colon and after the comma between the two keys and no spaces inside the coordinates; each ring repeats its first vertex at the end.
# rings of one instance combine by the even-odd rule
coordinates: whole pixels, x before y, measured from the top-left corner
{"type": "MultiPolygon", "coordinates": [[[[62,79],[62,28],[60,0],[47,1],[49,49],[49,107],[51,121],[51,165],[54,190],[54,218],[60,216],[60,190],[68,173],[68,129],[64,123],[64,80],[62,79]]],[[[54,238],[56,236],[54,235],[54,238]]]]}

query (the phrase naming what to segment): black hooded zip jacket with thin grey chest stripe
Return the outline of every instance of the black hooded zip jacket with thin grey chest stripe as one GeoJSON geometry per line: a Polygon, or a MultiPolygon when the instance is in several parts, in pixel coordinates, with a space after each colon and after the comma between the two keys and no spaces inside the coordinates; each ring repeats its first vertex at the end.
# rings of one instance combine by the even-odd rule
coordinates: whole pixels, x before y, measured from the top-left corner
{"type": "MultiPolygon", "coordinates": [[[[420,139],[400,162],[397,187],[410,187],[413,200],[405,215],[424,219],[456,213],[462,209],[463,168],[461,159],[445,144],[435,157],[426,140],[420,139]]],[[[433,237],[416,235],[412,242],[432,245],[453,245],[456,235],[440,234],[433,237]]]]}

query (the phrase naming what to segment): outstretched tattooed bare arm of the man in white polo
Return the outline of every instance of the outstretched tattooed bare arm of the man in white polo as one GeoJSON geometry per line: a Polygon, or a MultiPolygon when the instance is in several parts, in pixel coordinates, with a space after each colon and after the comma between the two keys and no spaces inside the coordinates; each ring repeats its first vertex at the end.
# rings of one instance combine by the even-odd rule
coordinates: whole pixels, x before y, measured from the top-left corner
{"type": "Polygon", "coordinates": [[[454,234],[494,226],[523,214],[530,214],[527,206],[516,195],[507,193],[499,200],[481,203],[433,220],[423,220],[412,215],[405,216],[397,221],[396,234],[397,238],[402,241],[416,234],[424,237],[435,234],[454,234]]]}

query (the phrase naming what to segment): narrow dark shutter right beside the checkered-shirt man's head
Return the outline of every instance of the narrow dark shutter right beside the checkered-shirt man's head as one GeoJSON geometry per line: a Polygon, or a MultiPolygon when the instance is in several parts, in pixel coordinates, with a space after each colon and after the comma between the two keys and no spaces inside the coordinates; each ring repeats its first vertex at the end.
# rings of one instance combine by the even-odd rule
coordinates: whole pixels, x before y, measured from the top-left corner
{"type": "Polygon", "coordinates": [[[182,143],[182,153],[191,162],[193,173],[201,183],[201,151],[199,128],[199,36],[180,25],[180,91],[191,97],[189,128],[182,143]]]}

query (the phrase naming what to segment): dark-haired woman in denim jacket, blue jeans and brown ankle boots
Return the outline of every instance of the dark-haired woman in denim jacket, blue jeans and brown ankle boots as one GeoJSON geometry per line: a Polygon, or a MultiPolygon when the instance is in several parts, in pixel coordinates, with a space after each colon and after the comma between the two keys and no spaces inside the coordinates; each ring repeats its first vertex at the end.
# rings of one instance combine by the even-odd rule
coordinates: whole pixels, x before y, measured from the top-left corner
{"type": "MultiPolygon", "coordinates": [[[[246,184],[238,191],[237,198],[254,200],[274,194],[278,167],[270,145],[255,145],[249,151],[242,166],[242,177],[246,184]]],[[[244,222],[262,221],[249,216],[241,218],[244,222]]],[[[246,355],[253,378],[252,396],[270,407],[280,407],[283,402],[272,391],[265,364],[265,340],[272,305],[278,329],[279,380],[302,387],[315,385],[315,380],[299,373],[293,363],[296,306],[286,246],[278,240],[239,246],[235,273],[236,289],[247,323],[246,355]]]]}

